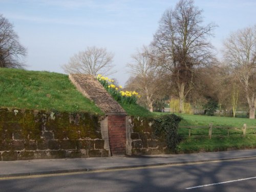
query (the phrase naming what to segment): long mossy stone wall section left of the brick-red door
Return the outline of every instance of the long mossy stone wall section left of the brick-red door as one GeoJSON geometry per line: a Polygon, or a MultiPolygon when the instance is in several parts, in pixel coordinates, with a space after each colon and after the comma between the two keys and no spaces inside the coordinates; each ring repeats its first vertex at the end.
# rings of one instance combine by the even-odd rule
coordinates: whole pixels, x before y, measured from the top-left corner
{"type": "Polygon", "coordinates": [[[88,113],[0,109],[0,160],[108,157],[104,119],[88,113]]]}

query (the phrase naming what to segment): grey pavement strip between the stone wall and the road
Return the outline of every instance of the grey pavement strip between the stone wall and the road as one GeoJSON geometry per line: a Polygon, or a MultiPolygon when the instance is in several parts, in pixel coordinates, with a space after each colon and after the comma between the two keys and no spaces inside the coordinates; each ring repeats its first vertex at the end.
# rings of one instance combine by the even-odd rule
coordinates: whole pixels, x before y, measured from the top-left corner
{"type": "Polygon", "coordinates": [[[106,158],[0,161],[0,178],[82,171],[90,172],[93,170],[185,164],[240,158],[256,158],[256,150],[179,155],[150,155],[140,157],[115,156],[106,158]]]}

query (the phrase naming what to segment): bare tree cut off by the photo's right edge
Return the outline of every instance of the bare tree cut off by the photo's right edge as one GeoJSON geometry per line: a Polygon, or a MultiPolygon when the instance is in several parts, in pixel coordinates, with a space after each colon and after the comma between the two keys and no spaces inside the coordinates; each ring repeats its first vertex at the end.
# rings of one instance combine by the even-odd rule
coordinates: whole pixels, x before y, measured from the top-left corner
{"type": "Polygon", "coordinates": [[[249,118],[256,108],[256,25],[231,33],[224,42],[225,61],[241,82],[249,106],[249,118]]]}

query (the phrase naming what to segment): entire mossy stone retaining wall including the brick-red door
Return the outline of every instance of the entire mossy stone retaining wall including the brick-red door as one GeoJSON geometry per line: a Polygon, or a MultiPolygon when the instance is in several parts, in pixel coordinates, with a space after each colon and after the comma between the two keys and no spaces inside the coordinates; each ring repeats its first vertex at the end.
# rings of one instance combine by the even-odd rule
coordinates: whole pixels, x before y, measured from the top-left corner
{"type": "Polygon", "coordinates": [[[152,124],[123,115],[0,109],[0,160],[168,154],[152,124]]]}

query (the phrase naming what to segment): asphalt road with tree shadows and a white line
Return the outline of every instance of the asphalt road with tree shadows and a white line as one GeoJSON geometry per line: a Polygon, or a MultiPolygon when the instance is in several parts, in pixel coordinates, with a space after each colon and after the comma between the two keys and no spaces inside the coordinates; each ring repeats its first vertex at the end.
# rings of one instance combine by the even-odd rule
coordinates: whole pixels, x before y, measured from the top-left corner
{"type": "Polygon", "coordinates": [[[0,191],[256,191],[256,158],[6,178],[0,191]]]}

